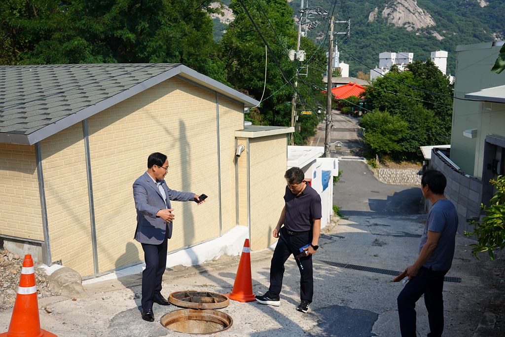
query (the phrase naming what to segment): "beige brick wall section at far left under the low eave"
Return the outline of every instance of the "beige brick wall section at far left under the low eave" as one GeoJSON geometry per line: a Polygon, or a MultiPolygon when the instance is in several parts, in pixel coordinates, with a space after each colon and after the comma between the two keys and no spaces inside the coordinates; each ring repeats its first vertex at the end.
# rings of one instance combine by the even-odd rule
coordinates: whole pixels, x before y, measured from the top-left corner
{"type": "Polygon", "coordinates": [[[42,241],[35,147],[0,143],[0,233],[42,241]]]}

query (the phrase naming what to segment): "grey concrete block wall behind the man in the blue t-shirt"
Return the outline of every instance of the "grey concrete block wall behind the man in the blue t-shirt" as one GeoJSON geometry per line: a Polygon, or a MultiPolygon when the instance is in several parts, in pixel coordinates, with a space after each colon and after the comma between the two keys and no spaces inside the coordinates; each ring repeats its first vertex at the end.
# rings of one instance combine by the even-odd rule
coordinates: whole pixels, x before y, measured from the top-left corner
{"type": "Polygon", "coordinates": [[[467,218],[479,217],[480,215],[482,181],[453,170],[434,154],[431,155],[431,166],[442,172],[447,179],[444,195],[458,211],[458,232],[463,234],[465,230],[472,231],[473,227],[467,222],[467,218]]]}

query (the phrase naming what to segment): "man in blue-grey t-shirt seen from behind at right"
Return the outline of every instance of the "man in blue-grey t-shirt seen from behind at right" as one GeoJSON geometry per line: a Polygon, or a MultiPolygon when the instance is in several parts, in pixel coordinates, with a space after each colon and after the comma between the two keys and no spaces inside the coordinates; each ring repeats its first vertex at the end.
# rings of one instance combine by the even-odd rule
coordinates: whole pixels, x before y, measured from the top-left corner
{"type": "Polygon", "coordinates": [[[443,277],[454,257],[458,213],[443,194],[447,180],[436,170],[426,170],[421,179],[423,196],[432,208],[428,213],[419,245],[419,257],[406,268],[409,283],[398,295],[401,337],[416,337],[416,302],[424,294],[430,324],[429,337],[440,337],[443,331],[443,277]]]}

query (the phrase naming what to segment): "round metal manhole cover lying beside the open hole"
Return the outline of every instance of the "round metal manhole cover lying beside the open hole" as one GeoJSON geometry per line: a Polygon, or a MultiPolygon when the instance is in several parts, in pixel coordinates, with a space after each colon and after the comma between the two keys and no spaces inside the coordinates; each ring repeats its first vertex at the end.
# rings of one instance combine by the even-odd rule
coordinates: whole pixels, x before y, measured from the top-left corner
{"type": "Polygon", "coordinates": [[[178,307],[191,309],[221,309],[230,305],[228,297],[210,292],[176,292],[168,300],[178,307]]]}

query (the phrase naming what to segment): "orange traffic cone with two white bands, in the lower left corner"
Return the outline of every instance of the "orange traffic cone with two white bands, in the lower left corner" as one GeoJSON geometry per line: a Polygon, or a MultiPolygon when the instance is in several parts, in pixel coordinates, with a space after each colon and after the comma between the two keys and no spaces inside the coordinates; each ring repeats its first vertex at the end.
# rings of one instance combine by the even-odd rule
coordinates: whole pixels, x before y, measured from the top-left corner
{"type": "Polygon", "coordinates": [[[0,337],[57,337],[56,334],[40,328],[35,269],[31,255],[25,255],[23,260],[9,331],[0,334],[0,337]]]}

